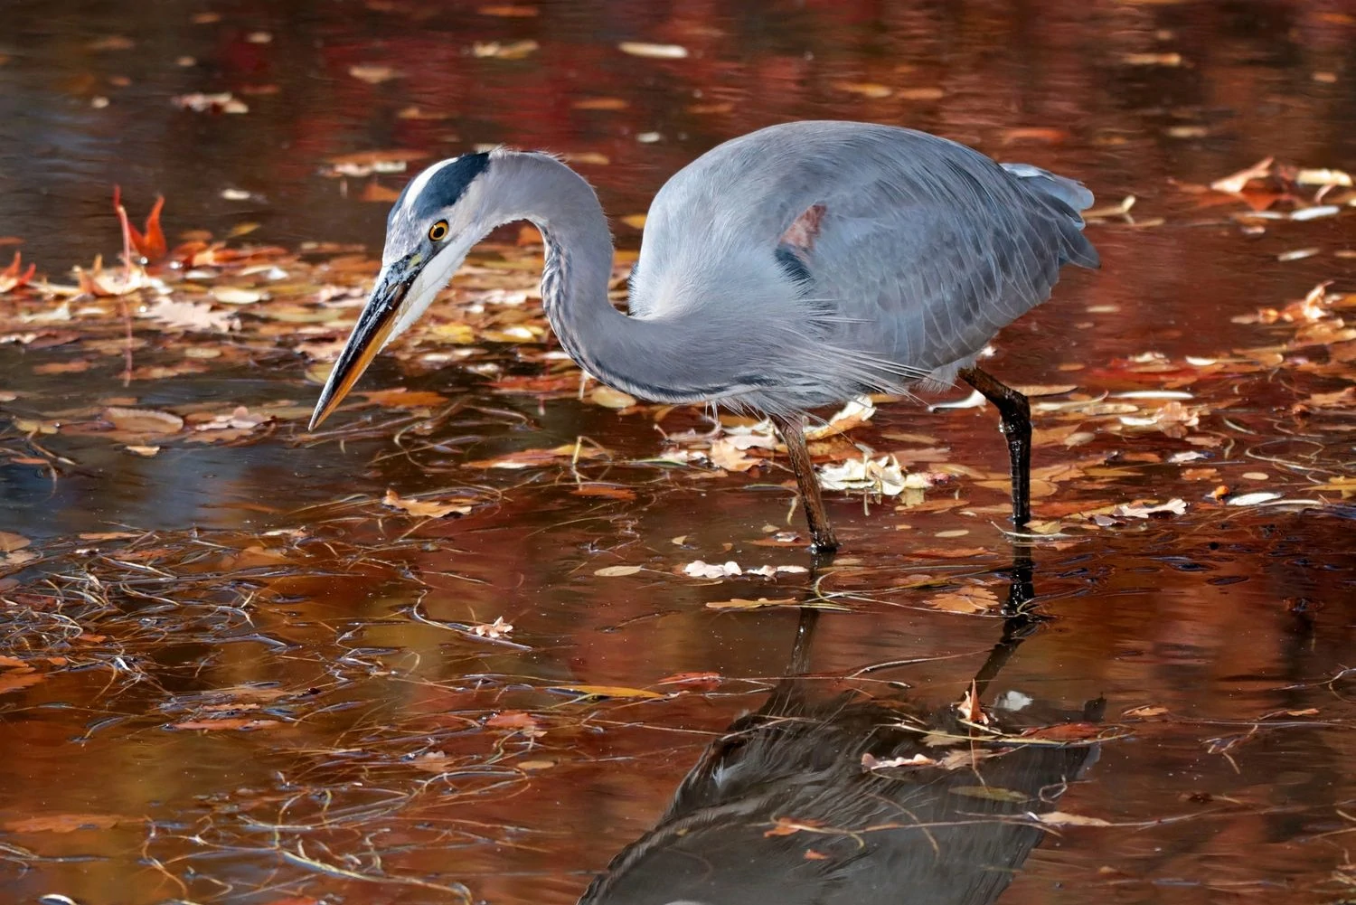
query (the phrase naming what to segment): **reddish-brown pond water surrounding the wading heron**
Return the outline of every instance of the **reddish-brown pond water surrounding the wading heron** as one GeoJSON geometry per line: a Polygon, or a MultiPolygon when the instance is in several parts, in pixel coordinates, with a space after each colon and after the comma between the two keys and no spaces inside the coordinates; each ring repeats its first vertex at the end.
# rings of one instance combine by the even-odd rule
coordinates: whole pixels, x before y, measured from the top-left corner
{"type": "MultiPolygon", "coordinates": [[[[1136,498],[1189,503],[1182,516],[1036,543],[1032,583],[1050,619],[1008,625],[1021,642],[989,661],[1001,669],[980,688],[986,707],[999,714],[1013,692],[1032,699],[1006,718],[1013,731],[1093,718],[1102,741],[1056,749],[1064,760],[1017,749],[917,790],[898,771],[894,784],[869,788],[856,772],[827,771],[815,780],[823,799],[865,794],[890,820],[930,826],[845,836],[865,830],[835,826],[849,818],[833,807],[811,813],[795,790],[816,776],[811,761],[854,765],[868,737],[888,741],[872,749],[879,757],[944,750],[880,741],[871,727],[913,714],[955,729],[949,704],[986,672],[1005,624],[991,611],[938,611],[933,592],[910,585],[921,574],[972,577],[1006,593],[1003,490],[970,475],[929,493],[930,503],[953,497],[949,507],[887,501],[864,513],[860,501],[831,499],[845,551],[819,578],[841,609],[820,612],[796,649],[797,609],[706,604],[814,600],[807,575],[677,574],[694,559],[808,566],[800,548],[765,545],[786,518],[785,475],[637,461],[660,448],[645,410],[502,395],[456,368],[415,373],[385,360],[372,387],[437,389],[462,408],[414,446],[395,421],[340,442],[305,436],[293,417],[262,442],[171,445],[155,459],[58,430],[37,440],[69,464],[0,465],[0,529],[33,539],[42,556],[3,583],[0,654],[22,661],[0,661],[4,897],[572,902],[660,822],[694,768],[669,820],[711,807],[683,825],[704,829],[650,837],[636,851],[652,860],[618,862],[633,897],[614,890],[607,901],[796,901],[772,891],[772,878],[801,878],[791,889],[804,891],[819,866],[843,864],[843,898],[812,901],[1356,894],[1356,512],[1341,490],[1321,488],[1352,475],[1356,422],[1349,404],[1292,408],[1351,385],[1353,341],[1237,323],[1325,280],[1356,293],[1353,258],[1342,255],[1356,216],[1268,221],[1249,235],[1231,218],[1241,205],[1204,205],[1181,187],[1269,155],[1356,166],[1356,8],[544,3],[506,16],[483,5],[12,1],[0,37],[0,233],[23,237],[26,258],[53,278],[99,251],[111,256],[107,198],[119,182],[134,210],[164,193],[171,232],[222,235],[248,221],[260,224],[250,240],[357,242],[370,252],[384,205],[358,199],[366,179],[319,175],[327,159],[490,142],[606,157],[579,167],[625,216],[721,138],[805,117],[929,129],[1077,175],[1111,204],[1134,194],[1139,225],[1089,225],[1102,271],[1069,274],[999,338],[993,361],[1016,383],[1077,383],[1090,395],[1185,387],[1201,407],[1191,431],[1104,423],[1088,446],[1036,450],[1037,468],[1106,457],[1059,480],[1037,517],[1136,498]],[[194,20],[205,12],[218,18],[194,20]],[[540,46],[521,60],[471,53],[526,39],[540,46]],[[617,52],[621,41],[690,53],[637,58],[617,52]],[[1172,53],[1181,65],[1143,56],[1172,53]],[[401,76],[369,84],[354,65],[401,76]],[[872,85],[894,94],[866,96],[872,85]],[[250,110],[171,103],[195,91],[231,91],[250,110]],[[595,109],[580,109],[586,99],[595,109]],[[441,118],[399,115],[411,106],[441,118]],[[225,189],[251,198],[224,199],[225,189]],[[1318,251],[1283,259],[1299,248],[1318,251]],[[1169,364],[1132,361],[1151,351],[1169,364]],[[1235,353],[1254,365],[1277,357],[1184,364],[1235,353]],[[579,478],[557,465],[465,465],[578,437],[610,450],[580,461],[579,478]],[[1207,459],[1191,467],[1216,471],[1193,476],[1169,461],[1192,450],[1207,459]],[[580,480],[633,498],[582,494],[580,480]],[[1207,497],[1220,483],[1318,502],[1224,506],[1207,497]],[[395,518],[376,503],[388,487],[488,505],[465,518],[395,518]],[[595,574],[618,564],[644,569],[595,574]],[[514,625],[506,639],[465,630],[496,617],[514,625]],[[812,677],[770,696],[793,649],[812,677]],[[685,673],[702,676],[664,681],[685,673]],[[580,685],[622,691],[571,691],[580,685]],[[856,711],[833,703],[830,691],[845,687],[856,711]],[[1100,718],[1085,712],[1097,699],[1100,718]],[[744,772],[702,761],[759,708],[776,726],[819,729],[744,727],[766,746],[744,772]],[[957,776],[968,792],[952,791],[957,776]],[[1043,801],[1052,795],[1043,787],[1064,777],[1058,803],[1043,801]],[[913,798],[895,798],[902,786],[913,798]],[[986,786],[1009,795],[974,794],[986,786]],[[721,795],[744,810],[721,810],[721,795]],[[1041,837],[1032,814],[1051,807],[1105,824],[1056,824],[1041,837]],[[765,836],[777,818],[804,826],[765,836]],[[660,856],[679,843],[692,851],[660,856]],[[711,866],[713,886],[683,886],[687,874],[704,877],[694,863],[711,866]],[[989,879],[967,885],[967,870],[989,879]]],[[[622,247],[639,242],[616,229],[622,247]]],[[[18,393],[7,417],[53,418],[113,396],[149,408],[309,406],[316,392],[298,355],[258,345],[130,388],[117,358],[34,372],[73,355],[0,347],[0,389],[18,393]]],[[[518,374],[541,369],[510,353],[503,361],[518,374]]],[[[340,429],[382,423],[372,410],[346,418],[340,429]]],[[[993,419],[891,406],[865,440],[887,449],[885,434],[926,434],[949,463],[998,472],[993,419]]],[[[1037,418],[1037,427],[1074,423],[1037,418]]],[[[3,442],[31,457],[24,434],[15,421],[3,442]]]]}

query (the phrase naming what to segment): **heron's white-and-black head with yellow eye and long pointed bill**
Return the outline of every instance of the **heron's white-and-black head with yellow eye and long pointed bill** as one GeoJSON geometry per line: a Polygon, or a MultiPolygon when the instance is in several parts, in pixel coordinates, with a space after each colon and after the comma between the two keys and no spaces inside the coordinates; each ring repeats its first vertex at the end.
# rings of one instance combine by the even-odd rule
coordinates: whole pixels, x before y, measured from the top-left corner
{"type": "Polygon", "coordinates": [[[487,227],[480,189],[490,161],[488,153],[441,160],[400,193],[386,217],[376,286],[320,392],[312,430],[343,402],[377,353],[419,319],[480,240],[487,227]]]}

